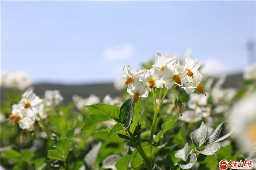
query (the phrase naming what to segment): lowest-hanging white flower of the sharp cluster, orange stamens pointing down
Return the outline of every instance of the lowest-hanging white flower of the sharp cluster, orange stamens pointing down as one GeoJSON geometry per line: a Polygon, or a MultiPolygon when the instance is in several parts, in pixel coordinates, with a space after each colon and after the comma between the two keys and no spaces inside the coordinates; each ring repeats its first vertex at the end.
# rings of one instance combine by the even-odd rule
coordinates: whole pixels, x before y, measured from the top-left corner
{"type": "Polygon", "coordinates": [[[131,84],[127,88],[127,92],[134,96],[134,103],[137,103],[140,97],[147,97],[149,90],[150,89],[148,88],[148,86],[144,88],[144,86],[140,83],[138,85],[131,84]]]}

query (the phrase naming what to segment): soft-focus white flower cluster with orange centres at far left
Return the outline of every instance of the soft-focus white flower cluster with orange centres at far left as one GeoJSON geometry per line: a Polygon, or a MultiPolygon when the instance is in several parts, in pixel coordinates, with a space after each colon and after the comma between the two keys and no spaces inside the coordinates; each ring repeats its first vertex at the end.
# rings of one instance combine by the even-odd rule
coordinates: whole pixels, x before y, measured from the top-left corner
{"type": "Polygon", "coordinates": [[[45,119],[47,115],[44,113],[43,99],[33,93],[32,90],[22,94],[22,99],[18,104],[12,105],[12,114],[9,119],[13,119],[14,123],[19,123],[19,127],[26,132],[39,128],[37,121],[45,119]]]}

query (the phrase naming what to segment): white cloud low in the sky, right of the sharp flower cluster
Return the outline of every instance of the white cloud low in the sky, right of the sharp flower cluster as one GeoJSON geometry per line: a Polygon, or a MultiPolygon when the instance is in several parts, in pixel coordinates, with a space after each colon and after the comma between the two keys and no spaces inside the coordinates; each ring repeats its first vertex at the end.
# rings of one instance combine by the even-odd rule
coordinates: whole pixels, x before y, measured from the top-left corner
{"type": "MultiPolygon", "coordinates": [[[[200,73],[203,75],[219,75],[229,72],[229,66],[215,58],[210,58],[200,63],[202,69],[200,69],[200,73]]],[[[200,67],[201,67],[200,66],[200,67]]]]}

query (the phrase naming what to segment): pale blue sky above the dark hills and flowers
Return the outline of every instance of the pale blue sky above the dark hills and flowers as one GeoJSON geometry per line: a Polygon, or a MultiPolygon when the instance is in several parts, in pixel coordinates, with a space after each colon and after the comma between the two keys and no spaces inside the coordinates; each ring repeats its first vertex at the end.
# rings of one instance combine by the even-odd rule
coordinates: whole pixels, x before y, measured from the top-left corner
{"type": "Polygon", "coordinates": [[[156,50],[192,49],[211,74],[249,65],[255,1],[1,1],[1,71],[35,82],[112,82],[156,50]]]}

